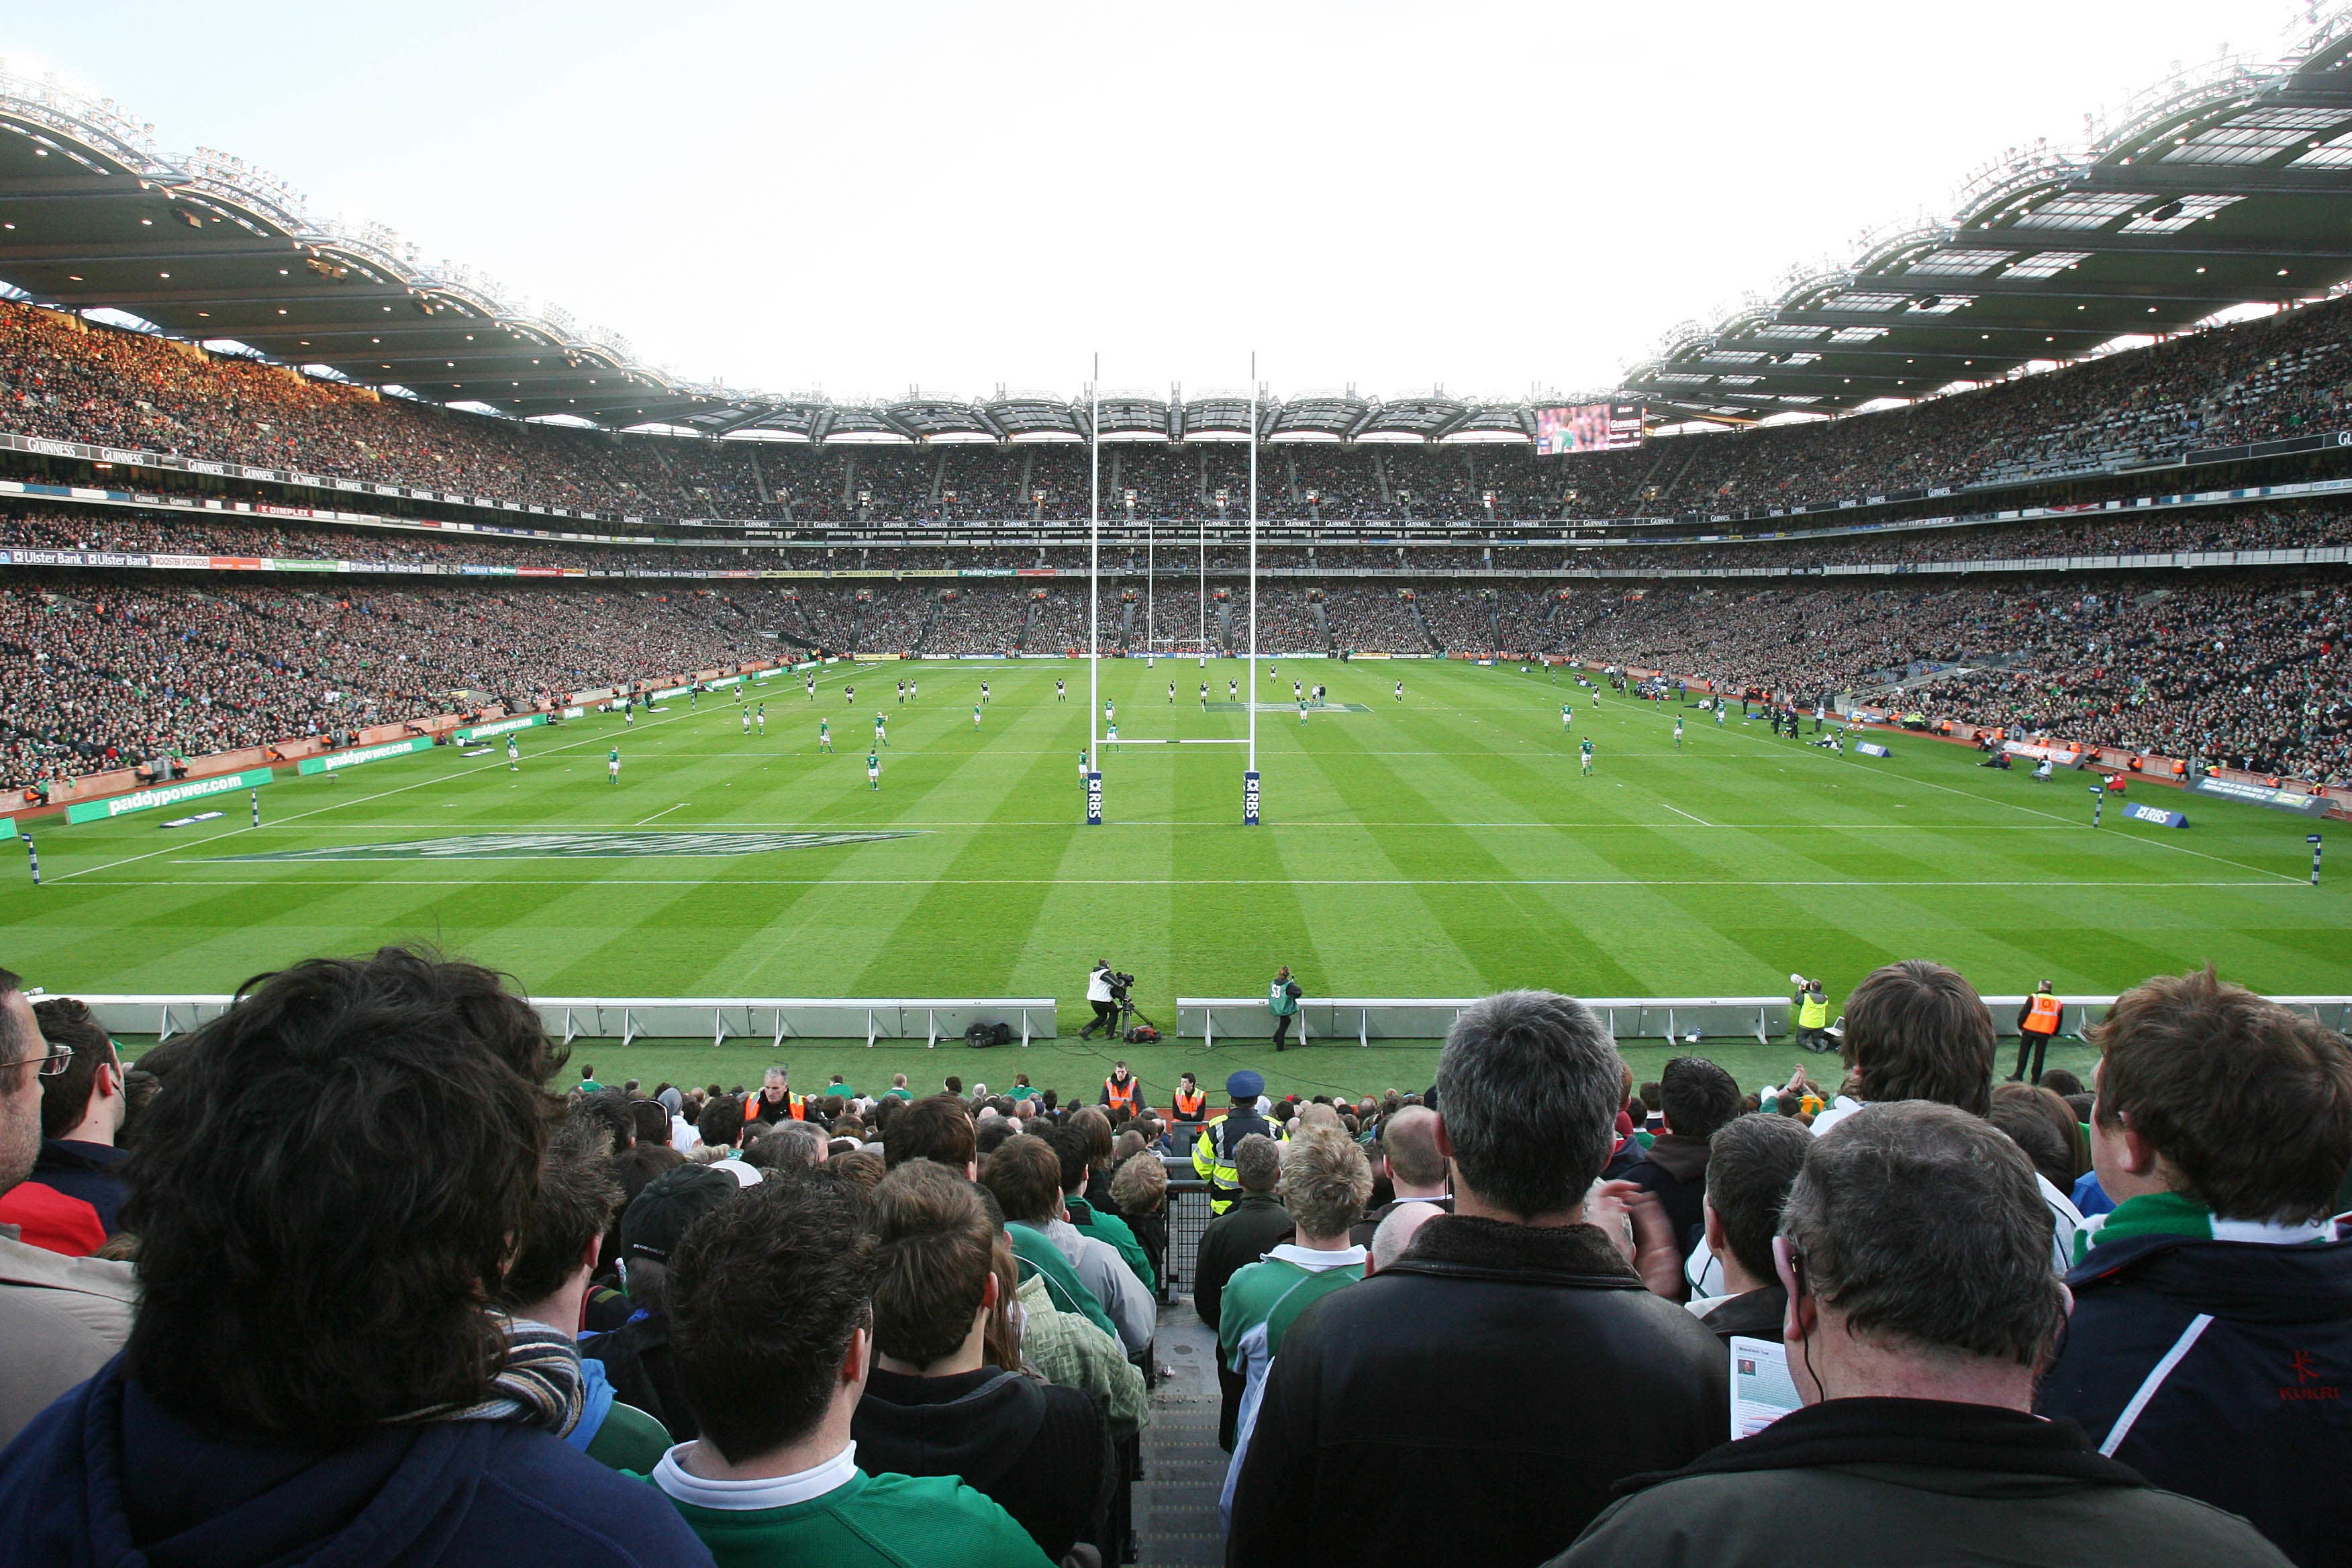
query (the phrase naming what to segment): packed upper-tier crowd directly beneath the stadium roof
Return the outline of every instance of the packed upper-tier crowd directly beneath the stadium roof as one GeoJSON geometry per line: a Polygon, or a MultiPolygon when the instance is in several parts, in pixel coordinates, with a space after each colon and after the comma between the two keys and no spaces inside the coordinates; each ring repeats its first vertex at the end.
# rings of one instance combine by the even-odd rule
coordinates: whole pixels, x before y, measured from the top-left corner
{"type": "MultiPolygon", "coordinates": [[[[2027,480],[2345,423],[2343,301],[1851,418],[1534,458],[1526,447],[1268,444],[1261,517],[1656,517],[2027,480]],[[1491,505],[1489,505],[1491,498],[1491,505]]],[[[1077,444],[795,447],[609,435],[459,414],[0,303],[0,425],[607,517],[1068,522],[1077,444]]],[[[1105,515],[1247,515],[1247,447],[1105,449],[1105,515]],[[1225,496],[1218,508],[1218,494],[1225,496]]]]}

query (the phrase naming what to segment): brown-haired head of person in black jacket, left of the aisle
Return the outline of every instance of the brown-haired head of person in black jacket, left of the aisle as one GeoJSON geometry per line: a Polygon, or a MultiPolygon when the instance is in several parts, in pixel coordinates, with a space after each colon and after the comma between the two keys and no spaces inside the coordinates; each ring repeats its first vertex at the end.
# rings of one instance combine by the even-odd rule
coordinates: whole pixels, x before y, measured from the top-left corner
{"type": "Polygon", "coordinates": [[[910,1159],[875,1187],[873,1222],[875,1349],[915,1373],[976,1368],[997,1305],[997,1227],[981,1190],[910,1159]]]}

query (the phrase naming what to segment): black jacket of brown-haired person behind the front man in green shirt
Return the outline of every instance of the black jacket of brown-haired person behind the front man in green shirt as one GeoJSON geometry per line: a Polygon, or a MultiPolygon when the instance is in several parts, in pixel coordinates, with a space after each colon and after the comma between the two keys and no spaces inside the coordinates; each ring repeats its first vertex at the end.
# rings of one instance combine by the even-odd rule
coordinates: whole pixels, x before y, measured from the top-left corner
{"type": "Polygon", "coordinates": [[[849,1436],[870,1476],[962,1476],[1056,1561],[1082,1540],[1112,1547],[1110,1427],[1082,1389],[995,1366],[953,1378],[875,1368],[849,1436]]]}

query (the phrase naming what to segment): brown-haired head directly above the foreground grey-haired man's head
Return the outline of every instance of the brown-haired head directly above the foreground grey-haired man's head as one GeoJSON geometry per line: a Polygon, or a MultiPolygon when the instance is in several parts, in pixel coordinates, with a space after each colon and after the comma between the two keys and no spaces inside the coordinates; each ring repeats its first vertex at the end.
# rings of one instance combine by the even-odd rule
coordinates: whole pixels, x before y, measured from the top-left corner
{"type": "Polygon", "coordinates": [[[1992,1110],[1992,1013],[1943,964],[1884,964],[1846,997],[1844,1056],[1867,1103],[1936,1100],[1983,1117],[1992,1110]]]}

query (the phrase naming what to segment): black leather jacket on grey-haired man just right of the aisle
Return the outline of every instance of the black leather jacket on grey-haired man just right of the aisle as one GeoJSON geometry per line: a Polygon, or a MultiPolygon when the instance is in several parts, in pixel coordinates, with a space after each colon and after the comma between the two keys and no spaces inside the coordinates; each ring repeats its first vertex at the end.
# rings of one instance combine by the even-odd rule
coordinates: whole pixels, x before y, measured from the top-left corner
{"type": "Polygon", "coordinates": [[[1724,1439],[1726,1371],[1590,1225],[1437,1215],[1282,1335],[1225,1563],[1541,1563],[1724,1439]]]}

